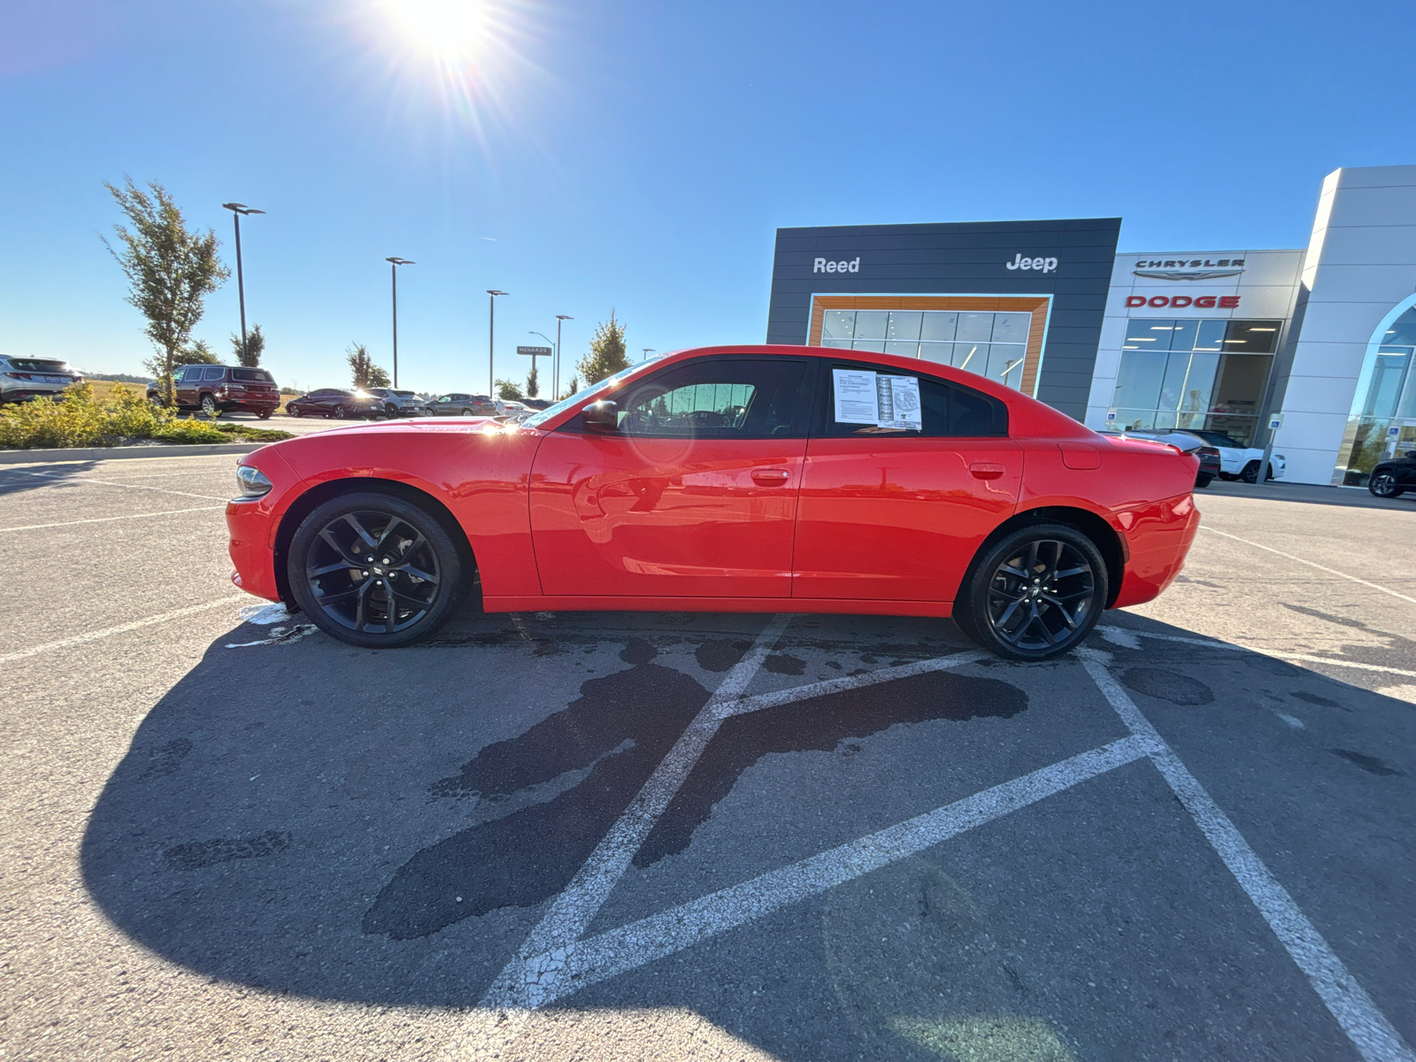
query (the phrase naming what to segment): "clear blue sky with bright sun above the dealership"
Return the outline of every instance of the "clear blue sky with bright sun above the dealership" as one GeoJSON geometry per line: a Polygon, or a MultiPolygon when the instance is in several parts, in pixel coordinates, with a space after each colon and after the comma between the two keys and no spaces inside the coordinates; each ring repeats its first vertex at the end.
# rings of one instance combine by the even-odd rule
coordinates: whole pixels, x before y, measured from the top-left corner
{"type": "MultiPolygon", "coordinates": [[[[0,353],[140,371],[102,181],[234,261],[282,382],[483,389],[615,307],[760,343],[779,225],[1124,218],[1123,249],[1304,246],[1325,173],[1416,163],[1410,3],[10,0],[0,353]]],[[[222,354],[232,279],[197,336],[222,354]]]]}

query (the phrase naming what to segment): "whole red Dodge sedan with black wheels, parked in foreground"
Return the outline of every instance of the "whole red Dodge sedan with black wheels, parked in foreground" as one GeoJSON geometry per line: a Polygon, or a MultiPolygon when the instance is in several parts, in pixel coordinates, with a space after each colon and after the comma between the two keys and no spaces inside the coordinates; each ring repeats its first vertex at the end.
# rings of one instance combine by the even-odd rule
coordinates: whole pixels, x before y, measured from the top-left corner
{"type": "Polygon", "coordinates": [[[489,612],[953,616],[1045,660],[1180,572],[1195,459],[946,365],[821,347],[641,362],[515,425],[265,446],[227,507],[235,583],[355,646],[489,612]]]}

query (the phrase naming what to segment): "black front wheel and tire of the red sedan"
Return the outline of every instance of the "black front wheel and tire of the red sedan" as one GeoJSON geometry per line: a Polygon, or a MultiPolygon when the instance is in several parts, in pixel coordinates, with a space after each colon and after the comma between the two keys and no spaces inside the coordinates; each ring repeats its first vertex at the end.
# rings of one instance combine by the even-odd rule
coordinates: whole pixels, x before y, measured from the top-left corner
{"type": "Polygon", "coordinates": [[[462,555],[442,523],[374,491],[331,498],[300,521],[286,573],[296,605],[320,630],[364,649],[426,637],[463,590],[462,555]]]}

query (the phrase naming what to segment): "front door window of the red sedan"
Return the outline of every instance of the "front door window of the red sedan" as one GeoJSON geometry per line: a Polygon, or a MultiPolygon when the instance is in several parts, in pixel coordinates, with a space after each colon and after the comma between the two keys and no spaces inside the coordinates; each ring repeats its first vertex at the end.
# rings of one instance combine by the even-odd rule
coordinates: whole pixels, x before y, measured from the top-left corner
{"type": "Polygon", "coordinates": [[[660,439],[786,439],[806,433],[806,362],[711,358],[674,365],[619,399],[619,426],[660,439]]]}

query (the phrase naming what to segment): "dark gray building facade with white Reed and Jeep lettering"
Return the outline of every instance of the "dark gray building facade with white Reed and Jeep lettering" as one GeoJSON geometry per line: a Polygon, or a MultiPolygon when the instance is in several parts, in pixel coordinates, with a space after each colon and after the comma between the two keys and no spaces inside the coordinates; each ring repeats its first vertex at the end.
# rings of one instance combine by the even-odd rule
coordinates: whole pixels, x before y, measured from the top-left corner
{"type": "Polygon", "coordinates": [[[782,228],[767,343],[918,350],[1082,421],[1120,227],[1075,218],[782,228]]]}

